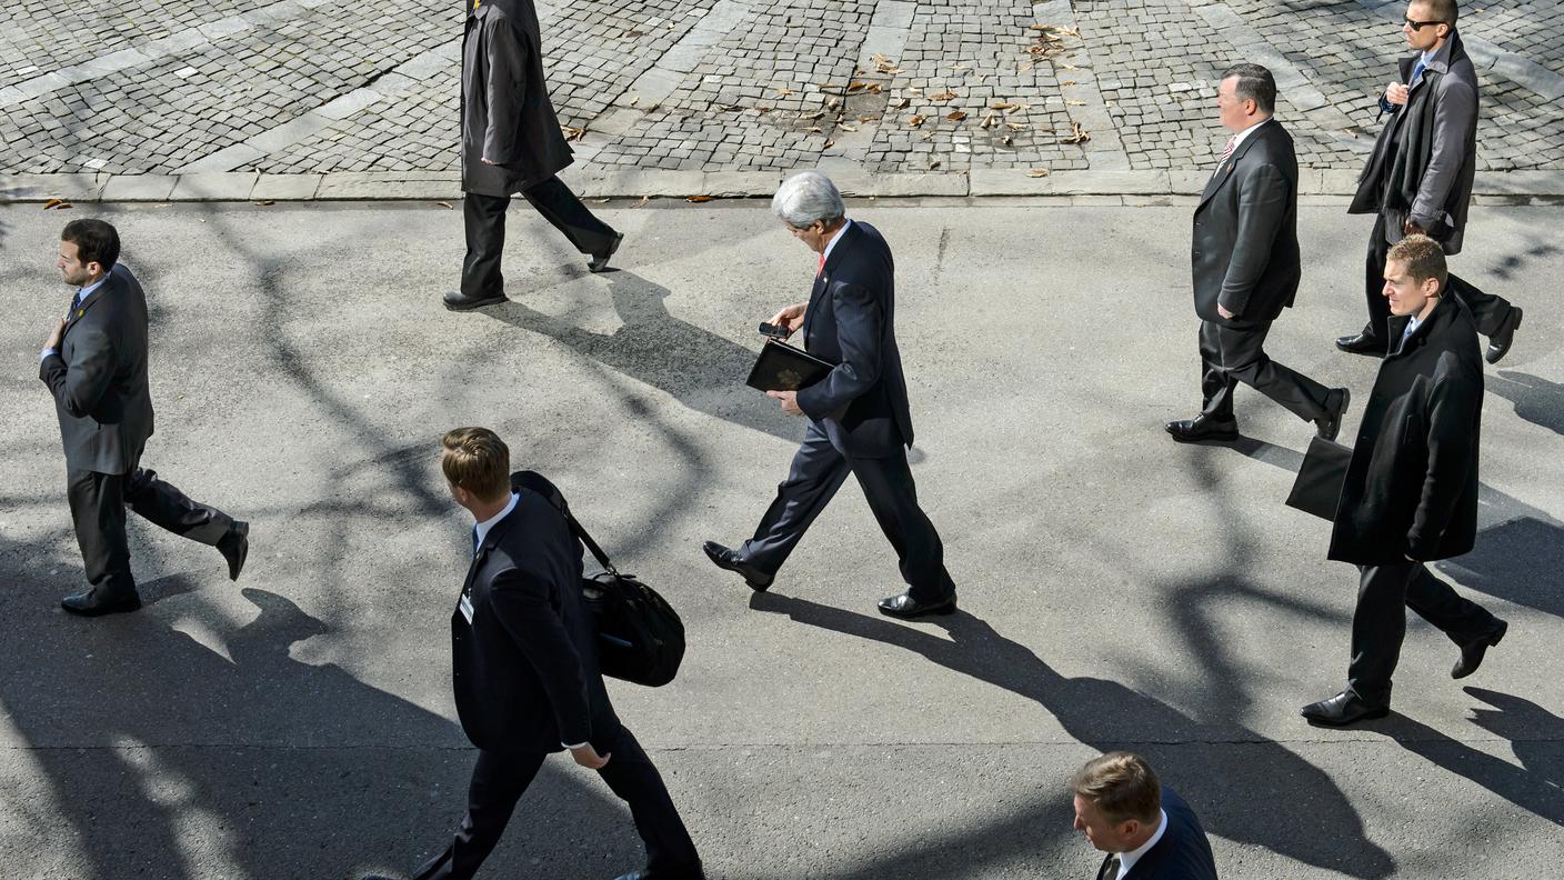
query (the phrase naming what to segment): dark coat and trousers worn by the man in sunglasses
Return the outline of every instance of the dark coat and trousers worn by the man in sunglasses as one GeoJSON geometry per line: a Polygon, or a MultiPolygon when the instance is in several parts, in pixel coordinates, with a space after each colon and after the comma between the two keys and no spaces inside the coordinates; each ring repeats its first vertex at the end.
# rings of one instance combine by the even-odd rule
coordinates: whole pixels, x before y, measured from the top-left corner
{"type": "MultiPolygon", "coordinates": [[[[1401,83],[1411,83],[1419,55],[1401,58],[1401,83]]],[[[1472,182],[1476,177],[1476,69],[1461,34],[1453,33],[1412,85],[1404,106],[1381,99],[1390,114],[1358,179],[1348,213],[1376,215],[1364,266],[1368,302],[1365,334],[1386,338],[1390,305],[1384,299],[1384,255],[1417,224],[1447,255],[1461,252],[1472,182]]],[[[1450,276],[1450,293],[1472,310],[1478,332],[1494,332],[1509,318],[1509,302],[1450,276]]]]}

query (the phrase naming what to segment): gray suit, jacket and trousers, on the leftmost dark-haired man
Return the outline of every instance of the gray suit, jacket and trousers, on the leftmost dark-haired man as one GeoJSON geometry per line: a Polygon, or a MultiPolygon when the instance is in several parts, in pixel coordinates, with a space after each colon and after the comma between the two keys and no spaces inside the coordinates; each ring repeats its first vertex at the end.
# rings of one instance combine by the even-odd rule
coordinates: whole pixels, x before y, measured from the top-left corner
{"type": "Polygon", "coordinates": [[[125,504],[164,529],[216,546],[233,526],[139,467],[152,437],[147,387],[147,299],[122,265],[67,316],[59,351],[42,359],[66,448],[66,496],[88,581],[135,593],[125,504]]]}

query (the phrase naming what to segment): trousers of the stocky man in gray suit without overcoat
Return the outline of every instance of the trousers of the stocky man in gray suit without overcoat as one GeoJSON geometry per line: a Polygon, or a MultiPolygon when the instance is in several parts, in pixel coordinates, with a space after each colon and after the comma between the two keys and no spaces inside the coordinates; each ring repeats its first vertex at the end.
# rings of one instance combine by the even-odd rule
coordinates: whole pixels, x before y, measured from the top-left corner
{"type": "Polygon", "coordinates": [[[1304,421],[1326,415],[1325,385],[1276,363],[1265,354],[1270,321],[1253,327],[1200,323],[1200,391],[1209,418],[1232,418],[1232,391],[1239,382],[1287,407],[1304,421]]]}

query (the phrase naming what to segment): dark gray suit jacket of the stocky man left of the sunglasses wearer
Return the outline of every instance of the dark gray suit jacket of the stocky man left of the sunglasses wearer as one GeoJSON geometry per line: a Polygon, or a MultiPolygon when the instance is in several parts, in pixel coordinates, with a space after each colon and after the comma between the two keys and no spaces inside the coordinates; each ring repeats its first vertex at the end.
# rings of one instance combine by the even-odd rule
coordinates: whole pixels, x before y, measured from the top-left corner
{"type": "Polygon", "coordinates": [[[1262,122],[1206,183],[1190,265],[1203,321],[1262,324],[1292,305],[1303,276],[1298,160],[1281,122],[1262,122]],[[1218,302],[1236,315],[1232,321],[1221,318],[1218,302]]]}

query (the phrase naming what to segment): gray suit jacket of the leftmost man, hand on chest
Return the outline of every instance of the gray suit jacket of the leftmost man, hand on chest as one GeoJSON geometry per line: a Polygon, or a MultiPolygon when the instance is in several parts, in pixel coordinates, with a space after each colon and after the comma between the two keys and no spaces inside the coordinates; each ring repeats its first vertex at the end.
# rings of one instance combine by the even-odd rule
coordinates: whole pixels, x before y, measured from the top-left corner
{"type": "Polygon", "coordinates": [[[66,467],[124,474],[152,437],[147,298],[116,263],[66,323],[59,354],[38,366],[55,396],[66,467]]]}

